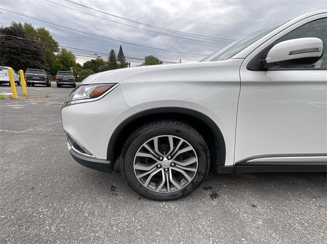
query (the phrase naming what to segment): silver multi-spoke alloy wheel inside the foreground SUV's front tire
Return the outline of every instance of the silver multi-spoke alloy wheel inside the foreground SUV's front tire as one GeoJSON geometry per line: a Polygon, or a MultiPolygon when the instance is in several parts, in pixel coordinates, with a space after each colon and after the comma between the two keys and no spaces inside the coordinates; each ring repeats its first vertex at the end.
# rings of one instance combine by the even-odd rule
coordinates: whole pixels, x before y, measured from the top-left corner
{"type": "Polygon", "coordinates": [[[188,185],[198,170],[198,157],[190,143],[175,135],[159,135],[138,148],[133,162],[137,180],[158,193],[171,193],[188,185]]]}

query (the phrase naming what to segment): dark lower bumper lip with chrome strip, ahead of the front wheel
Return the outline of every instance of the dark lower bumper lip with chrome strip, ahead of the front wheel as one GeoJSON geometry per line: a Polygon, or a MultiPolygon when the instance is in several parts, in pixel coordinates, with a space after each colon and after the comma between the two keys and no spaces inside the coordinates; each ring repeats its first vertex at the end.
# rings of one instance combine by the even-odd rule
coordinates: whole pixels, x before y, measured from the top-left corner
{"type": "Polygon", "coordinates": [[[69,152],[75,161],[77,161],[80,165],[83,165],[87,168],[98,170],[101,172],[111,173],[111,162],[104,159],[90,158],[78,153],[71,145],[67,142],[67,147],[69,152]]]}

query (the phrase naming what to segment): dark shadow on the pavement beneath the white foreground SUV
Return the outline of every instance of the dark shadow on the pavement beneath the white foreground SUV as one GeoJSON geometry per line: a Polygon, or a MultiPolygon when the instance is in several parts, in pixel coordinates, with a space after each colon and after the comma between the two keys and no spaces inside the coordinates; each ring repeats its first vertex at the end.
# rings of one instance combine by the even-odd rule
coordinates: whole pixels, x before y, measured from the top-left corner
{"type": "MultiPolygon", "coordinates": [[[[112,173],[102,173],[90,169],[81,172],[86,187],[100,184],[99,194],[109,197],[144,199],[138,196],[127,185],[120,172],[119,161],[116,162],[112,173]],[[90,184],[90,185],[88,185],[90,184]]],[[[200,187],[190,196],[176,201],[187,199],[204,199],[217,201],[220,198],[254,197],[273,200],[290,197],[319,199],[326,197],[327,177],[325,173],[239,173],[218,174],[214,169],[209,171],[207,178],[200,187]]],[[[148,199],[145,199],[148,200],[148,199]]],[[[148,200],[151,201],[151,200],[148,200]]],[[[255,205],[254,205],[255,207],[255,205]]]]}

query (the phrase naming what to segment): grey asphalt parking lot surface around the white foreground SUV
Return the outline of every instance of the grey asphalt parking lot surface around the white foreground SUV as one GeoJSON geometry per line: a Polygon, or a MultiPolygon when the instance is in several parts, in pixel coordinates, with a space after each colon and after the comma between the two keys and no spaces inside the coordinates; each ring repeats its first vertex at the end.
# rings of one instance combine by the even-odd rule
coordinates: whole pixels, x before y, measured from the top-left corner
{"type": "Polygon", "coordinates": [[[71,90],[0,100],[1,243],[326,243],[324,173],[211,171],[192,195],[157,202],[132,192],[119,167],[80,166],[60,121],[71,90]]]}

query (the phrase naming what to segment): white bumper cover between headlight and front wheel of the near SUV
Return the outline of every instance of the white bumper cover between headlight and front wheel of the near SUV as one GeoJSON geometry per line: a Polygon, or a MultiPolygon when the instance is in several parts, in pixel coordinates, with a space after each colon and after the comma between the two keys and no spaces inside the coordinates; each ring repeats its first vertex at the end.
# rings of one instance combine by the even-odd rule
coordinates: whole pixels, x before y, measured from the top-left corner
{"type": "MultiPolygon", "coordinates": [[[[88,102],[85,99],[85,102],[64,106],[61,119],[65,133],[71,135],[86,154],[112,161],[107,153],[111,135],[134,113],[126,104],[121,87],[118,86],[99,100],[88,102]]],[[[113,161],[111,163],[114,164],[113,161]]]]}

